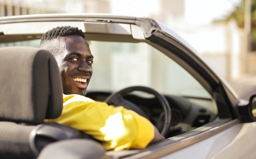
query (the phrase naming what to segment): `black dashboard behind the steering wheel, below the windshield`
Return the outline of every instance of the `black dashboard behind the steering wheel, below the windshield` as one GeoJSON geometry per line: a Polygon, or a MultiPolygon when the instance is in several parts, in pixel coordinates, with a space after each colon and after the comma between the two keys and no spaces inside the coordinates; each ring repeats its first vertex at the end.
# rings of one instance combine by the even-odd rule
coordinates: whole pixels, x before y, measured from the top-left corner
{"type": "MultiPolygon", "coordinates": [[[[91,91],[86,96],[99,102],[104,102],[112,92],[91,91]]],[[[213,101],[191,96],[164,95],[171,107],[171,124],[169,133],[165,137],[180,135],[192,129],[206,125],[217,118],[217,109],[213,101]]],[[[130,93],[124,99],[134,103],[146,114],[148,120],[161,132],[165,121],[161,103],[154,96],[140,96],[130,93]]]]}

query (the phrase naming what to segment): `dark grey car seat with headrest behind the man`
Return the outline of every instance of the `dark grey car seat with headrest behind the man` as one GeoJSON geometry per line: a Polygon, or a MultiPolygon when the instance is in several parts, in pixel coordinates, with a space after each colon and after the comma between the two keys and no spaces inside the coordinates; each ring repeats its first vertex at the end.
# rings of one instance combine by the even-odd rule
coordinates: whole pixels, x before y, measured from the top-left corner
{"type": "Polygon", "coordinates": [[[54,56],[29,47],[0,48],[0,158],[35,158],[29,136],[61,115],[62,85],[54,56]]]}

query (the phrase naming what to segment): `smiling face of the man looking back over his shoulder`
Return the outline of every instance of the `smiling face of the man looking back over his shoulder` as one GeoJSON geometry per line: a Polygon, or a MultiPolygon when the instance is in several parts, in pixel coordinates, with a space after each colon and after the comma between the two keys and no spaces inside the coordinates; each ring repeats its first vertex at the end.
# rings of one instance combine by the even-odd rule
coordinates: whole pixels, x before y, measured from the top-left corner
{"type": "Polygon", "coordinates": [[[55,56],[61,71],[64,94],[84,96],[92,75],[93,56],[89,45],[77,35],[58,39],[62,54],[55,56]]]}

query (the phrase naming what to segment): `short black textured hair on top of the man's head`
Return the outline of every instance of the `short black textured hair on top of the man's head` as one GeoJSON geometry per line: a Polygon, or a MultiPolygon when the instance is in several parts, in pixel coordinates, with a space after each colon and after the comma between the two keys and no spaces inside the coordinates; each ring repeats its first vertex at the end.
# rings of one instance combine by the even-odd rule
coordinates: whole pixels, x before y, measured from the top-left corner
{"type": "Polygon", "coordinates": [[[65,37],[69,35],[79,35],[84,38],[83,31],[81,31],[78,27],[70,27],[70,26],[54,27],[50,31],[47,31],[45,34],[43,34],[41,38],[41,44],[45,41],[50,41],[54,38],[65,37]]]}

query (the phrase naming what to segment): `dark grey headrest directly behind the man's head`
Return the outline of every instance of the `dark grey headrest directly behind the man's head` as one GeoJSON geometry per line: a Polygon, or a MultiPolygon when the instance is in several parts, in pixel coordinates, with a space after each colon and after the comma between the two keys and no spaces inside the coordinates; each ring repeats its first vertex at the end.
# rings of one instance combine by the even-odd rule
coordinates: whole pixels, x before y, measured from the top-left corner
{"type": "Polygon", "coordinates": [[[61,115],[62,85],[54,56],[31,47],[0,48],[0,120],[39,124],[61,115]]]}

